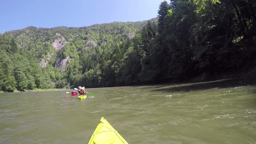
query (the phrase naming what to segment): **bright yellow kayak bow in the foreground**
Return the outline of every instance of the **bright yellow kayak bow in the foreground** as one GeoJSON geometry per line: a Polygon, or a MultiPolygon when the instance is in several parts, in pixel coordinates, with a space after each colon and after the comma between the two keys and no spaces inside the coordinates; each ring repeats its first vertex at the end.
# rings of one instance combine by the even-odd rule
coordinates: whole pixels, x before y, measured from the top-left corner
{"type": "Polygon", "coordinates": [[[102,117],[88,144],[128,144],[128,142],[102,117]]]}

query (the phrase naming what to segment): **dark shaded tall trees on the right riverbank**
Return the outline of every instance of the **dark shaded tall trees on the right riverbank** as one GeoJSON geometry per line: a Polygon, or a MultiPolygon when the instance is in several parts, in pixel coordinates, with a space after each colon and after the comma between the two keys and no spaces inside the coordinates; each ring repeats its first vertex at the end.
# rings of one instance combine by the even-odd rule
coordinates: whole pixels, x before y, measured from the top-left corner
{"type": "Polygon", "coordinates": [[[188,80],[255,66],[255,10],[255,2],[244,0],[162,2],[158,34],[146,56],[148,80],[188,80]]]}

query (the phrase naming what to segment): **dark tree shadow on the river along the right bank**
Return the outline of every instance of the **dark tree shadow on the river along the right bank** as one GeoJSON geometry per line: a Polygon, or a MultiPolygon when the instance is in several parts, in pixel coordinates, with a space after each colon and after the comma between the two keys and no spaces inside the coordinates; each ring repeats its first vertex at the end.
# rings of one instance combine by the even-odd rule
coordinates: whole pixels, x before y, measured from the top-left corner
{"type": "Polygon", "coordinates": [[[151,91],[179,92],[179,91],[206,90],[206,89],[214,89],[214,88],[234,88],[234,87],[248,86],[248,85],[249,86],[256,85],[256,78],[234,78],[234,79],[216,80],[211,82],[152,86],[151,91]],[[166,86],[168,86],[168,88],[166,88],[166,86]]]}

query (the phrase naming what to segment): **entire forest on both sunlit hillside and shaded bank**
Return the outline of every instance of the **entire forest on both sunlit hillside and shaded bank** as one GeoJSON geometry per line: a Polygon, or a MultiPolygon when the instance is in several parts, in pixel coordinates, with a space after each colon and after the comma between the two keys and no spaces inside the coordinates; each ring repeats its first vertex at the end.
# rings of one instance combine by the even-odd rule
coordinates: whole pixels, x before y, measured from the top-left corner
{"type": "Polygon", "coordinates": [[[256,72],[255,0],[170,0],[158,17],[0,34],[0,91],[160,84],[256,72]]]}

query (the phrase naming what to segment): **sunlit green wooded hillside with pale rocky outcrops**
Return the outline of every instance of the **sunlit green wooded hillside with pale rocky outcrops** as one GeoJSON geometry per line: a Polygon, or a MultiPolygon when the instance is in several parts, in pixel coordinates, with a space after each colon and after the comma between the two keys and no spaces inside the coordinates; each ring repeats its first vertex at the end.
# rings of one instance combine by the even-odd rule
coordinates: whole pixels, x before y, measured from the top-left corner
{"type": "Polygon", "coordinates": [[[12,92],[73,85],[114,86],[102,80],[100,69],[107,67],[113,56],[127,51],[125,46],[146,22],[112,22],[80,28],[30,26],[1,34],[0,87],[12,92]],[[98,83],[101,80],[106,84],[98,83]]]}

